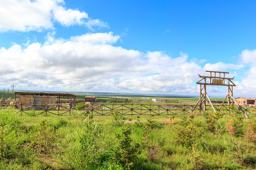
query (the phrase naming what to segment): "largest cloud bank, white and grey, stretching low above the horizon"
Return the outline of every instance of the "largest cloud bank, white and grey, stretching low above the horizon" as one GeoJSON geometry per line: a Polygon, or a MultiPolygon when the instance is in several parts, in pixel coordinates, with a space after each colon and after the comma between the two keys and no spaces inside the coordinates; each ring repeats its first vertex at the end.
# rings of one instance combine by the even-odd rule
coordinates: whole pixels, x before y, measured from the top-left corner
{"type": "Polygon", "coordinates": [[[194,93],[201,66],[188,55],[162,51],[142,53],[113,46],[113,33],[69,39],[49,35],[47,43],[0,49],[2,82],[19,88],[98,92],[194,93]],[[11,77],[11,78],[10,78],[11,77]]]}

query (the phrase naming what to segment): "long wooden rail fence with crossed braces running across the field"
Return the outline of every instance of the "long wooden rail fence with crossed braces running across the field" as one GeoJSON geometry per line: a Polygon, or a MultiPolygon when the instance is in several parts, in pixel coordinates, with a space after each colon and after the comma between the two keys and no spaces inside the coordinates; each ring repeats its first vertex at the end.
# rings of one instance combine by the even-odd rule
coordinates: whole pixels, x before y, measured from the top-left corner
{"type": "MultiPolygon", "coordinates": [[[[34,116],[60,116],[60,115],[73,115],[73,111],[76,110],[73,103],[66,104],[44,104],[44,105],[33,105],[33,104],[15,104],[15,105],[0,105],[1,109],[5,108],[19,108],[17,112],[24,112],[34,116]]],[[[248,115],[255,114],[255,106],[240,106],[244,112],[248,115]]],[[[229,107],[227,105],[214,105],[215,110],[219,110],[224,114],[229,112],[229,107]]],[[[85,110],[89,111],[91,115],[104,116],[109,115],[112,110],[119,110],[122,115],[185,115],[193,113],[199,114],[199,106],[195,105],[181,105],[181,104],[92,104],[86,107],[85,110]]],[[[210,105],[206,106],[208,112],[213,112],[210,105]]],[[[235,110],[239,114],[243,114],[242,110],[235,106],[235,110]]]]}

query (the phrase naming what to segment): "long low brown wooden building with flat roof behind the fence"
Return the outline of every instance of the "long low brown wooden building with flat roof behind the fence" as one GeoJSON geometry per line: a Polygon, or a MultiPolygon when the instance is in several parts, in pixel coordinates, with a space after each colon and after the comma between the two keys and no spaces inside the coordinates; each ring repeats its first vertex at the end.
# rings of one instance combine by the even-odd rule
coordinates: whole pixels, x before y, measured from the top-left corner
{"type": "Polygon", "coordinates": [[[76,97],[69,93],[15,92],[14,94],[18,109],[20,109],[21,104],[24,104],[24,107],[29,107],[31,110],[48,109],[49,104],[60,103],[60,99],[68,99],[70,102],[75,103],[76,97]]]}

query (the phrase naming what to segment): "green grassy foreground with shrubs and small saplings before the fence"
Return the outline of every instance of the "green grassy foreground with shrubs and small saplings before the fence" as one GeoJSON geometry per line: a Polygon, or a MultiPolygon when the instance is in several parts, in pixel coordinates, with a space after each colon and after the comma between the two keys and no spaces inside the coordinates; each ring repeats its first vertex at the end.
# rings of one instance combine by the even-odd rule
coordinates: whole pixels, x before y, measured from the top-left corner
{"type": "Polygon", "coordinates": [[[0,110],[0,169],[255,170],[256,117],[222,116],[34,117],[9,107],[0,110]]]}

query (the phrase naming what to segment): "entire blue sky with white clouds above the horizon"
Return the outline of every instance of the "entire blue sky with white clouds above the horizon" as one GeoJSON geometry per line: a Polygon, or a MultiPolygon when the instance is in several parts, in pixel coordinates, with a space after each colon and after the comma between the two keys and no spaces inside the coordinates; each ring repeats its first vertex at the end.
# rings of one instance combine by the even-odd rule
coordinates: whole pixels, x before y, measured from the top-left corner
{"type": "MultiPolygon", "coordinates": [[[[228,71],[255,97],[252,0],[0,2],[0,88],[199,95],[198,73],[228,71]]],[[[226,88],[209,87],[226,96],[226,88]]]]}

